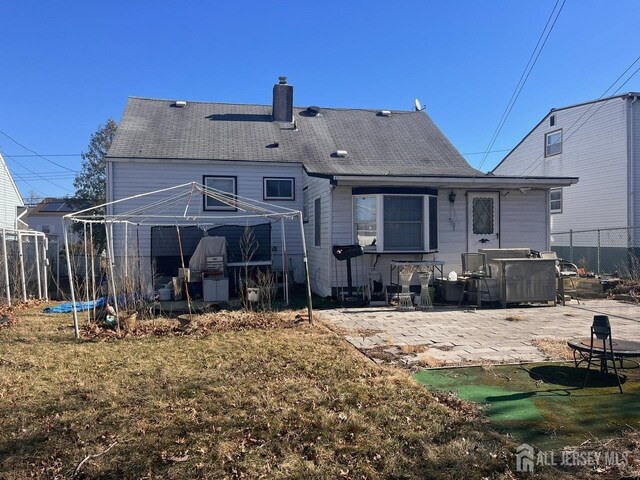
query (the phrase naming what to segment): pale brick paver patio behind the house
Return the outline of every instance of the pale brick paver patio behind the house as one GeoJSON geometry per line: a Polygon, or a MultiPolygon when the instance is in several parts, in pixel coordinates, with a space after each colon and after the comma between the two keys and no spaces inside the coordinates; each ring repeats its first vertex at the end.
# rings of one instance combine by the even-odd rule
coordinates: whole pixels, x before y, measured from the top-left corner
{"type": "MultiPolygon", "coordinates": [[[[548,360],[533,339],[589,336],[596,314],[609,315],[614,338],[640,339],[640,306],[615,300],[506,310],[436,307],[433,312],[401,312],[372,307],[319,312],[360,350],[401,353],[403,346],[404,350],[410,350],[406,346],[424,346],[422,355],[451,365],[548,360]]],[[[410,357],[415,359],[411,355],[406,361],[411,361],[410,357]]]]}

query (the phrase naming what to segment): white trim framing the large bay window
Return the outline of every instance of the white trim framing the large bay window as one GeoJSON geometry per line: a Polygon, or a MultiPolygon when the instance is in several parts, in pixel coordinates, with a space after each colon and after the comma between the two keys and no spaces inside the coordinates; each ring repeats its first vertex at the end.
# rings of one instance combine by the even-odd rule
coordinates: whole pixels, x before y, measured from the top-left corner
{"type": "MultiPolygon", "coordinates": [[[[355,222],[355,197],[376,197],[376,248],[371,248],[370,245],[364,246],[365,251],[376,252],[376,253],[433,253],[436,252],[437,249],[430,250],[428,248],[429,245],[429,198],[434,197],[436,201],[438,199],[437,195],[428,195],[428,194],[416,194],[416,193],[374,193],[369,195],[352,195],[351,196],[351,238],[353,242],[357,242],[358,240],[358,232],[356,231],[356,222],[355,222]],[[416,250],[385,250],[384,248],[384,197],[422,197],[422,249],[416,250]],[[367,248],[368,247],[368,248],[367,248]]],[[[440,232],[436,232],[438,235],[438,239],[440,236],[440,232]]],[[[439,240],[438,240],[439,241],[439,240]]]]}

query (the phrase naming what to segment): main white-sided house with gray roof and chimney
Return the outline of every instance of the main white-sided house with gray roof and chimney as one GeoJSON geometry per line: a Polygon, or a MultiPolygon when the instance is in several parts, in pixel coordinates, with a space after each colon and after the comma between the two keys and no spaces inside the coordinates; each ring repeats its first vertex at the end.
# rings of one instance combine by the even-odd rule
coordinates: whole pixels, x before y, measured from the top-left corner
{"type": "MultiPolygon", "coordinates": [[[[483,174],[425,112],[294,107],[286,79],[274,86],[272,106],[132,97],[106,160],[108,201],[195,181],[302,211],[312,288],[323,296],[344,278],[334,245],[365,247],[356,284],[374,265],[388,272],[391,260],[435,257],[446,262],[445,271],[460,271],[462,252],[548,249],[549,190],[577,181],[483,174]]],[[[228,209],[209,200],[198,213],[228,209]]],[[[109,213],[143,205],[122,202],[109,213]]],[[[166,214],[182,212],[174,207],[166,214]]],[[[228,223],[245,224],[228,215],[228,223]]],[[[163,248],[151,237],[148,227],[140,230],[140,253],[149,264],[158,263],[163,248]]],[[[293,224],[288,253],[302,281],[298,237],[293,224]]],[[[279,229],[271,239],[277,267],[279,229]]],[[[177,260],[165,265],[175,269],[177,260]]]]}

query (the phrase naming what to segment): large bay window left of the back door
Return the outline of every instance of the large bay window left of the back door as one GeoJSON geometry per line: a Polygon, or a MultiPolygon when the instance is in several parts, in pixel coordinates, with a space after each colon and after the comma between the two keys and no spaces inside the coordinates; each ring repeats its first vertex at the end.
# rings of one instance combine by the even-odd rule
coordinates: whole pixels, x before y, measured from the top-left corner
{"type": "Polygon", "coordinates": [[[354,240],[374,252],[428,252],[438,248],[438,198],[434,189],[354,188],[354,240]],[[365,194],[358,195],[359,191],[365,194]],[[402,194],[409,190],[409,194],[402,194]],[[425,189],[420,189],[425,190],[425,189]]]}

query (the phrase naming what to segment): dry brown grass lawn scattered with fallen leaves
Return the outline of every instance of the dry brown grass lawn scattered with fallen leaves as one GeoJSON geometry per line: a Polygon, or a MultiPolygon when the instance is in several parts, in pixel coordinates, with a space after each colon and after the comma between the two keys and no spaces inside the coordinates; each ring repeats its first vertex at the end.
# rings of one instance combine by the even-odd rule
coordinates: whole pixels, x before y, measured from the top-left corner
{"type": "Polygon", "coordinates": [[[442,398],[320,326],[76,341],[31,310],[0,329],[0,478],[115,442],[77,478],[514,478],[514,445],[442,398]]]}

